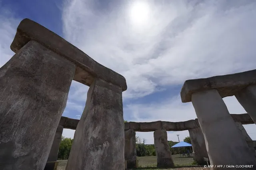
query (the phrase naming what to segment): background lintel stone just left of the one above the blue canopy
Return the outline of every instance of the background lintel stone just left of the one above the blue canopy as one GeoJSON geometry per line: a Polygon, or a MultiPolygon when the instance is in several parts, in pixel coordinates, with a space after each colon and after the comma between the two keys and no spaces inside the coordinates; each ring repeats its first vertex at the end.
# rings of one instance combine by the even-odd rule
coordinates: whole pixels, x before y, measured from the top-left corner
{"type": "Polygon", "coordinates": [[[129,122],[130,129],[136,130],[136,132],[152,132],[158,129],[162,129],[161,121],[156,122],[129,122]]]}

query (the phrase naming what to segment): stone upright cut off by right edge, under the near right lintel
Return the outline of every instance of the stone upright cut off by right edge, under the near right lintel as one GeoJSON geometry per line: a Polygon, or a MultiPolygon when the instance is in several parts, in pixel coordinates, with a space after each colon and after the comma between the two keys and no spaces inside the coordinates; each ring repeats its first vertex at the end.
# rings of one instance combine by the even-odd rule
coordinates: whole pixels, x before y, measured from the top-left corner
{"type": "Polygon", "coordinates": [[[250,85],[242,89],[235,96],[254,123],[256,123],[256,85],[250,85]]]}

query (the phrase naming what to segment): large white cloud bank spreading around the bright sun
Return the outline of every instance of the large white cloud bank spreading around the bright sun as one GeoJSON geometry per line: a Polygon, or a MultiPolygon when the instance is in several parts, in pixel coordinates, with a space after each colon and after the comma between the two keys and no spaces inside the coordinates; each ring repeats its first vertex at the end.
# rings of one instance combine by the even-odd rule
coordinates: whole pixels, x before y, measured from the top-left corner
{"type": "Polygon", "coordinates": [[[92,0],[68,1],[65,38],[126,77],[125,98],[186,79],[254,69],[256,2],[147,1],[150,22],[130,22],[131,2],[102,10],[92,0]],[[240,3],[240,4],[239,4],[240,3]]]}

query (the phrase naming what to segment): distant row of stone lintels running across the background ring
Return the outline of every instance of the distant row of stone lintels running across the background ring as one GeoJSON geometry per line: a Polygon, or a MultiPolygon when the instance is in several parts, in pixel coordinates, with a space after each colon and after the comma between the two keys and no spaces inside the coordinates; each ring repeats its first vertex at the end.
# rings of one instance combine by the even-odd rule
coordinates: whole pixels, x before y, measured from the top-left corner
{"type": "MultiPolygon", "coordinates": [[[[241,122],[242,125],[254,124],[252,118],[247,114],[230,114],[235,122],[241,122]]],[[[70,119],[68,117],[61,117],[59,125],[64,128],[76,129],[78,119],[70,119]]],[[[184,122],[127,122],[124,123],[124,130],[132,129],[136,132],[153,132],[159,129],[166,129],[167,131],[182,131],[192,128],[200,127],[198,120],[189,120],[184,122]]]]}

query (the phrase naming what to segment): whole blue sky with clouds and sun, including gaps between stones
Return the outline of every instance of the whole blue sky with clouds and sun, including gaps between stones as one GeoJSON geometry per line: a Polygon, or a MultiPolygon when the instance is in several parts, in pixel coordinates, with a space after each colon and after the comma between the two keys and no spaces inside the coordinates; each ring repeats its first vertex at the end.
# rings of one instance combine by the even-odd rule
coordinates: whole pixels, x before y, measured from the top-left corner
{"type": "MultiPolygon", "coordinates": [[[[0,0],[0,67],[29,18],[126,78],[125,120],[187,121],[196,113],[181,102],[184,81],[256,69],[255,17],[255,0],[0,0]]],[[[87,91],[72,81],[62,116],[80,119],[87,91]]],[[[231,114],[246,113],[234,96],[223,100],[231,114]]],[[[256,125],[244,128],[256,140],[256,125]]],[[[177,134],[189,136],[168,140],[177,134]]],[[[136,135],[154,143],[153,132],[136,135]]]]}

